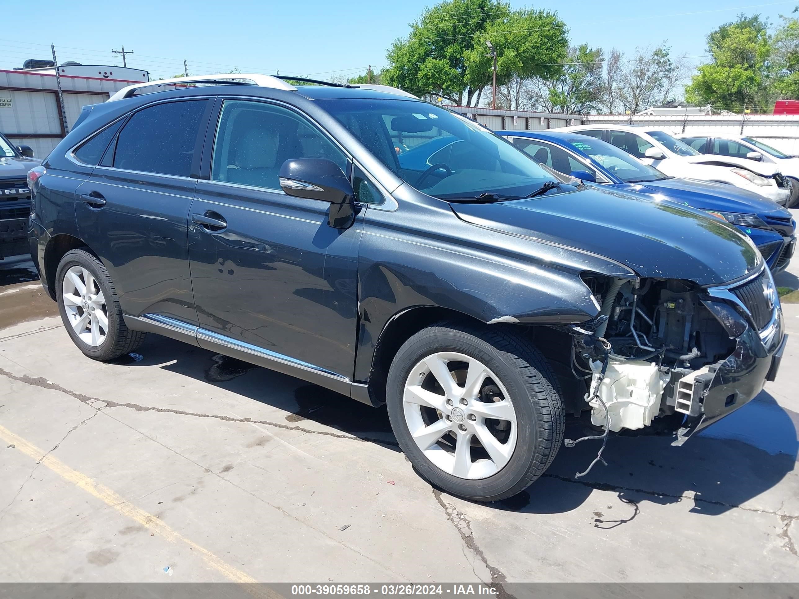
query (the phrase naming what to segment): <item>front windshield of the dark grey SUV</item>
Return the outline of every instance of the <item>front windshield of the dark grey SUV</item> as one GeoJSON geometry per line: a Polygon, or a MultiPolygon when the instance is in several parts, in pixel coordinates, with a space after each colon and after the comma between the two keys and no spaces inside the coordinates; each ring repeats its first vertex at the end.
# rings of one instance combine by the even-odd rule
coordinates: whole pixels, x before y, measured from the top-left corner
{"type": "Polygon", "coordinates": [[[524,197],[556,180],[475,121],[426,102],[347,98],[318,103],[400,179],[430,196],[524,197]]]}

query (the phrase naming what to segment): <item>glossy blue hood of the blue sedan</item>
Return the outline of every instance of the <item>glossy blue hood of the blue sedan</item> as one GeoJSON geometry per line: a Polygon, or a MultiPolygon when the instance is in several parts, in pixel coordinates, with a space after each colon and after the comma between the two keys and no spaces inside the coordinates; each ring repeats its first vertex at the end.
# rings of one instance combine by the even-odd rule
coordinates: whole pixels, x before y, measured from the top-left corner
{"type": "MultiPolygon", "coordinates": [[[[721,212],[743,212],[745,214],[761,214],[785,210],[772,200],[767,200],[757,193],[746,189],[713,183],[698,179],[663,179],[646,181],[646,183],[626,183],[616,185],[630,192],[644,193],[650,196],[663,196],[678,204],[685,204],[700,210],[719,210],[721,212]]],[[[787,212],[787,211],[785,211],[787,212]]]]}

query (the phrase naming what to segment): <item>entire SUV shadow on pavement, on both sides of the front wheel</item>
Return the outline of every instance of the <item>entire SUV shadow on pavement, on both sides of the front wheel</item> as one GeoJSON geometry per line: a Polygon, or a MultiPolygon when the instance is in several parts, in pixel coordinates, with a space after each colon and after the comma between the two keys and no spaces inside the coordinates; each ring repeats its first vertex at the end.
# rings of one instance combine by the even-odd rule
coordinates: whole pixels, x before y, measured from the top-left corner
{"type": "MultiPolygon", "coordinates": [[[[288,412],[280,426],[329,426],[344,434],[399,451],[385,408],[374,408],[323,387],[287,375],[214,354],[199,347],[150,335],[140,355],[117,360],[132,366],[161,365],[168,371],[203,380],[214,386],[288,412]]],[[[549,469],[527,490],[513,498],[489,504],[499,510],[559,514],[582,505],[594,490],[610,490],[634,506],[690,502],[696,514],[716,515],[741,506],[777,485],[797,461],[799,414],[781,407],[763,391],[738,411],[688,439],[671,446],[666,436],[622,436],[608,440],[598,463],[583,478],[601,442],[586,441],[561,447],[549,469]]],[[[566,438],[584,434],[566,426],[566,438]]],[[[629,515],[629,514],[628,514],[629,515]]],[[[608,526],[619,521],[602,520],[608,526]]]]}

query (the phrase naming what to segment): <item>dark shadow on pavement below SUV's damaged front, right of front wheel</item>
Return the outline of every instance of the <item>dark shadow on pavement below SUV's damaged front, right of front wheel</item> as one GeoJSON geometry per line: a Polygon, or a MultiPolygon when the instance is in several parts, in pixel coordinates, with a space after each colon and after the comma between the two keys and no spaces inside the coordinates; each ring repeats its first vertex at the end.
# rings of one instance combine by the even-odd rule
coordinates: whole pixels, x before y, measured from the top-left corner
{"type": "MultiPolygon", "coordinates": [[[[635,514],[641,502],[690,502],[691,513],[723,514],[777,485],[794,469],[797,426],[799,415],[764,391],[680,447],[671,446],[671,437],[612,437],[602,454],[607,466],[599,462],[579,479],[574,475],[586,470],[601,441],[562,447],[542,478],[519,496],[493,505],[562,513],[580,506],[593,490],[609,490],[634,505],[635,514]]],[[[577,438],[581,432],[567,427],[566,437],[577,438]]]]}

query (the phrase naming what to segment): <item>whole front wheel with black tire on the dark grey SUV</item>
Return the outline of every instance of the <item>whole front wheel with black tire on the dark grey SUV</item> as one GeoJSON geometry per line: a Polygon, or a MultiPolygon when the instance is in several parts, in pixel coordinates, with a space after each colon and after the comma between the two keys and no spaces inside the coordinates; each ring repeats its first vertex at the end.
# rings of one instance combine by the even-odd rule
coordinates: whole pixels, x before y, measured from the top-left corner
{"type": "Polygon", "coordinates": [[[471,501],[498,501],[525,489],[547,470],[563,439],[565,409],[555,375],[527,338],[503,325],[443,322],[411,336],[388,372],[386,403],[415,470],[471,501]],[[447,375],[453,380],[444,385],[455,385],[450,394],[439,383],[447,375]],[[439,429],[446,430],[441,438],[439,429]]]}

